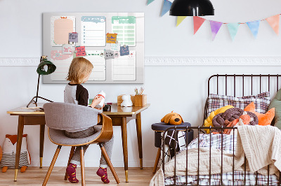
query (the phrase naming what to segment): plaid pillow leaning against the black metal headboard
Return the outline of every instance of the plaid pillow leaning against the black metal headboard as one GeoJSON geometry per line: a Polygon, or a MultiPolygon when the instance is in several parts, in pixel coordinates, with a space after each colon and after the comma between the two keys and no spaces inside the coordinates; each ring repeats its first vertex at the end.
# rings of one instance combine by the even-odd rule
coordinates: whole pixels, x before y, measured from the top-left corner
{"type": "Polygon", "coordinates": [[[255,103],[256,112],[266,113],[268,110],[268,106],[270,104],[270,94],[269,92],[263,92],[261,94],[257,94],[256,96],[242,96],[242,97],[209,94],[208,110],[207,110],[208,115],[212,111],[227,105],[231,105],[244,110],[244,108],[247,105],[249,105],[249,103],[251,102],[255,103]]]}

